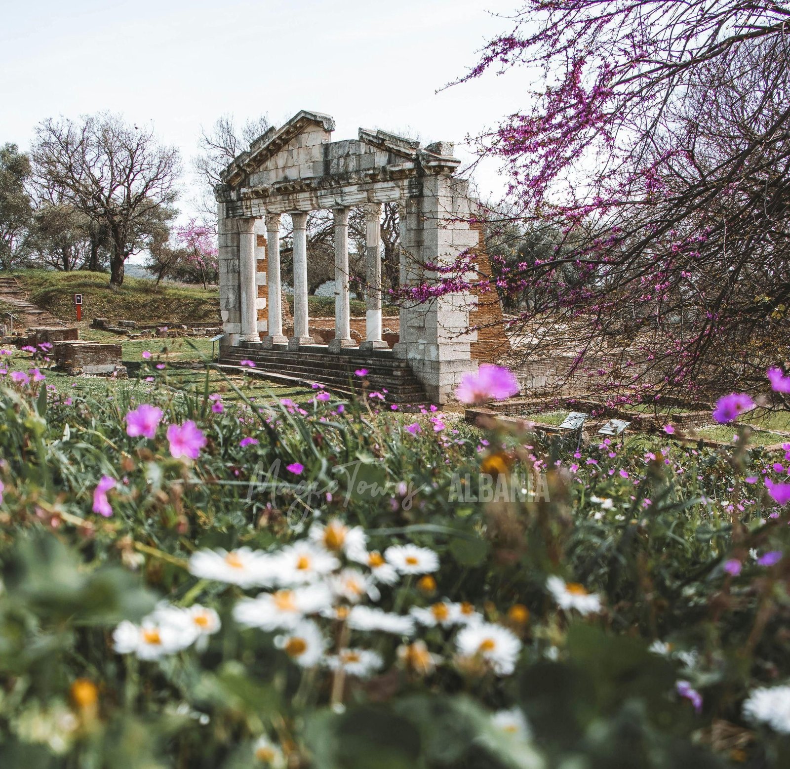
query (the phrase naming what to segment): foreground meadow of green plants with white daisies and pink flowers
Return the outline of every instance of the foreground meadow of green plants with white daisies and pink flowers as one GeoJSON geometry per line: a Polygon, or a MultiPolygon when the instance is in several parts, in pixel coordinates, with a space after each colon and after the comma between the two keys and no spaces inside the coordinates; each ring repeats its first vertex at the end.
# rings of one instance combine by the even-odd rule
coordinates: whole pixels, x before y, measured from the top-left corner
{"type": "Polygon", "coordinates": [[[790,444],[208,383],[3,386],[3,767],[785,765],[790,444]]]}

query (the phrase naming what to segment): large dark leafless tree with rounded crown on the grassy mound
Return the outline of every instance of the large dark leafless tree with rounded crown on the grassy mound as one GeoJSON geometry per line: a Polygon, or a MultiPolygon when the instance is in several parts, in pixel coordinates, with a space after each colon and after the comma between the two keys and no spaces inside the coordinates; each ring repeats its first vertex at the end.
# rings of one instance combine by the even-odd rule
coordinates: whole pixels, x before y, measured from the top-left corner
{"type": "Polygon", "coordinates": [[[178,150],[160,145],[150,128],[103,113],[40,123],[32,162],[39,187],[107,228],[110,285],[118,288],[126,258],[143,247],[146,228],[175,201],[178,150]]]}

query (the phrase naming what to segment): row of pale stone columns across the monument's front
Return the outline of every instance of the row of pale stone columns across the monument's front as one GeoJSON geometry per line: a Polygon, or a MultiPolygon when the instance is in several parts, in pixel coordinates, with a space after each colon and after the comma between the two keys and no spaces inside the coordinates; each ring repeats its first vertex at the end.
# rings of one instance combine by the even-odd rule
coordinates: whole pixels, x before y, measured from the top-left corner
{"type": "MultiPolygon", "coordinates": [[[[363,205],[366,230],[366,338],[359,349],[380,349],[388,345],[382,341],[382,262],[381,262],[381,203],[363,205]]],[[[351,337],[351,312],[348,292],[348,208],[333,209],[335,236],[335,338],[329,343],[332,352],[354,346],[351,337]]],[[[269,333],[264,338],[266,347],[288,342],[289,349],[312,345],[310,314],[307,310],[307,213],[294,211],[293,222],[293,288],[294,335],[288,340],[283,334],[280,281],[280,214],[266,214],[266,251],[269,286],[269,333]]],[[[241,334],[239,341],[260,341],[258,335],[258,285],[255,257],[255,219],[239,222],[239,283],[241,289],[241,334]]]]}

